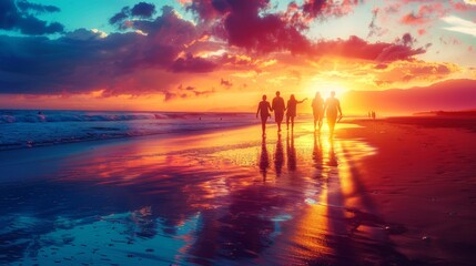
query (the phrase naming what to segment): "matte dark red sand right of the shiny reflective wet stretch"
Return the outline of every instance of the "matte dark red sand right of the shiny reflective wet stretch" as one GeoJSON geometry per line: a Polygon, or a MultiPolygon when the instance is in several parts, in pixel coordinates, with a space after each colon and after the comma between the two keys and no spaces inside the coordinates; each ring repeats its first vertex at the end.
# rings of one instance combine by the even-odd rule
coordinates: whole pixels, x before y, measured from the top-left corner
{"type": "Polygon", "coordinates": [[[426,265],[473,265],[476,258],[476,119],[359,121],[377,147],[359,167],[382,217],[402,225],[399,252],[426,265]]]}

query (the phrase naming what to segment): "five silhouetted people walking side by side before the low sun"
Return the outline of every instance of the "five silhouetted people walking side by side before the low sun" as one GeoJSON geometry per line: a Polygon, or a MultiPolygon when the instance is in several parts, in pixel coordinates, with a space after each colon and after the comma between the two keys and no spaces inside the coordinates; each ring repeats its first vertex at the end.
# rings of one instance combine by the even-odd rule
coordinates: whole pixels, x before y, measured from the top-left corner
{"type": "MultiPolygon", "coordinates": [[[[284,112],[286,112],[286,130],[290,130],[291,121],[291,130],[293,131],[297,104],[307,100],[307,98],[305,98],[302,101],[297,101],[294,94],[291,94],[286,105],[284,104],[284,99],[280,94],[280,91],[276,91],[276,96],[273,99],[272,104],[266,101],[266,95],[263,95],[262,101],[257,105],[256,117],[259,114],[261,115],[263,136],[266,133],[266,121],[271,117],[271,112],[274,112],[274,121],[277,124],[277,132],[281,132],[281,123],[284,119],[284,112]]],[[[327,116],[330,139],[332,139],[334,136],[334,127],[337,122],[337,117],[342,117],[341,103],[335,98],[335,92],[331,92],[331,96],[325,101],[321,96],[321,93],[316,92],[311,106],[313,108],[314,115],[314,131],[318,130],[321,132],[325,113],[327,116]]]]}

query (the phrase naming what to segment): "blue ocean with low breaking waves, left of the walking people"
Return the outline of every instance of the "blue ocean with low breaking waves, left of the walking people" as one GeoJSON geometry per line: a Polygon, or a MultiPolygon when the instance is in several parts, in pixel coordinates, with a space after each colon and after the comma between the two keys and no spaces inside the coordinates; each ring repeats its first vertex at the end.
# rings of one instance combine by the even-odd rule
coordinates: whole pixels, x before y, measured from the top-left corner
{"type": "Polygon", "coordinates": [[[255,123],[252,113],[0,110],[0,151],[255,123]]]}

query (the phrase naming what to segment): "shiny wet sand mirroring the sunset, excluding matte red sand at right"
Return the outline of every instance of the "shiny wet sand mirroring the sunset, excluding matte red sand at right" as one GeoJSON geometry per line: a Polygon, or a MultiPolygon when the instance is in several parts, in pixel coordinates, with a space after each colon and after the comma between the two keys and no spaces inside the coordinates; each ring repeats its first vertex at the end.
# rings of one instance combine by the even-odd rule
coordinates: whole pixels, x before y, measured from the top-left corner
{"type": "MultiPolygon", "coordinates": [[[[223,137],[242,134],[215,137],[226,143],[223,137]]],[[[213,149],[201,147],[199,141],[206,140],[198,137],[189,140],[192,149],[173,144],[171,152],[166,142],[155,153],[143,144],[143,150],[124,146],[123,153],[100,150],[64,162],[54,178],[6,184],[0,187],[0,222],[8,226],[0,232],[0,245],[7,255],[0,262],[406,263],[388,238],[376,236],[385,223],[372,200],[351,193],[364,190],[355,162],[372,147],[321,139],[327,140],[296,131],[286,136],[285,151],[281,135],[213,149]],[[267,145],[275,146],[274,168],[267,145]]]]}

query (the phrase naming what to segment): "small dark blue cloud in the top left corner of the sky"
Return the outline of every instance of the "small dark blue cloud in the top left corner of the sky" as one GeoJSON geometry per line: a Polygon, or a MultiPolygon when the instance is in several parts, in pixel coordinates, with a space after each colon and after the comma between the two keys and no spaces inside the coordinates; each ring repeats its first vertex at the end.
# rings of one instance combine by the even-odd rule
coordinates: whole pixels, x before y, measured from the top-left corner
{"type": "Polygon", "coordinates": [[[13,0],[0,1],[0,29],[20,31],[29,35],[63,32],[64,27],[62,24],[58,22],[48,23],[28,12],[31,10],[37,12],[57,12],[59,11],[57,7],[30,3],[27,1],[19,1],[17,4],[13,0]]]}

